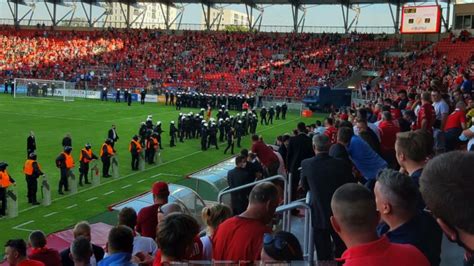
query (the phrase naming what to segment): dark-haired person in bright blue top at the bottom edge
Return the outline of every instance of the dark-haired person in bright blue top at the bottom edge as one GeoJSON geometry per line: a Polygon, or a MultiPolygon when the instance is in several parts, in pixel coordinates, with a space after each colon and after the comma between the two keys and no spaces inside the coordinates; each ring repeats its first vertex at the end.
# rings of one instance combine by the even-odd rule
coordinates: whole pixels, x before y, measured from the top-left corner
{"type": "Polygon", "coordinates": [[[118,225],[110,229],[107,238],[109,256],[99,262],[99,266],[132,266],[133,231],[127,226],[118,225]]]}

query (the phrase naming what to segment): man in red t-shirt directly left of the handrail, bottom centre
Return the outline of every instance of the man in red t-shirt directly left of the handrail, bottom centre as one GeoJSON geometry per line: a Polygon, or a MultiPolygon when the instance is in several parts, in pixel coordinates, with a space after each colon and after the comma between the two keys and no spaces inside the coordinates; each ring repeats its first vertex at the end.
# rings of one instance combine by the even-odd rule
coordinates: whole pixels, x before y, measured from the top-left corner
{"type": "Polygon", "coordinates": [[[247,210],[219,225],[212,239],[213,259],[217,261],[256,261],[260,259],[263,235],[278,206],[278,189],[270,183],[256,185],[247,210]]]}

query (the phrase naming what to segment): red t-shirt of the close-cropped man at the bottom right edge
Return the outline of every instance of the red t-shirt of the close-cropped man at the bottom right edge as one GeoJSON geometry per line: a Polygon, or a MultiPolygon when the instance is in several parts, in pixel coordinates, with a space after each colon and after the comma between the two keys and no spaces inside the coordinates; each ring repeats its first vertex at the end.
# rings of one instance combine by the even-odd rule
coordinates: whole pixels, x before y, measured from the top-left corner
{"type": "Polygon", "coordinates": [[[348,248],[338,261],[344,266],[429,266],[426,257],[416,247],[390,243],[387,237],[348,248]]]}

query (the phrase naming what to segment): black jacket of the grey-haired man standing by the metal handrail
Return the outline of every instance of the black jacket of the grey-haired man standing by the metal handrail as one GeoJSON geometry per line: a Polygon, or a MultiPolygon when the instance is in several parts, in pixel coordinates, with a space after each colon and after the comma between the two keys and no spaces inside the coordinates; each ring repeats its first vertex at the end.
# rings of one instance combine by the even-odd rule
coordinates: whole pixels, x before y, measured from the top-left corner
{"type": "Polygon", "coordinates": [[[331,198],[340,186],[355,182],[352,167],[347,162],[330,157],[327,153],[301,162],[301,185],[311,193],[313,227],[330,228],[331,198]]]}

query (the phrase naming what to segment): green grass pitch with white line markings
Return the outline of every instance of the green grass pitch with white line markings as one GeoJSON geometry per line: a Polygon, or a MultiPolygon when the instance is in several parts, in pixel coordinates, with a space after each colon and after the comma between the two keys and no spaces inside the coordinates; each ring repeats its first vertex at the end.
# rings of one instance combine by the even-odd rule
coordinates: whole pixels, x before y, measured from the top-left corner
{"type": "MultiPolygon", "coordinates": [[[[181,112],[189,111],[196,110],[183,108],[181,112]]],[[[157,180],[179,183],[184,175],[230,156],[223,154],[224,144],[220,145],[220,150],[211,148],[202,152],[199,140],[185,141],[184,144],[178,143],[177,147],[170,148],[167,135],[169,122],[176,120],[179,112],[174,107],[156,103],[134,103],[128,107],[124,103],[97,100],[76,99],[74,102],[62,102],[32,98],[13,99],[9,95],[0,95],[0,161],[8,162],[8,171],[16,180],[19,198],[19,216],[0,220],[0,244],[3,245],[10,238],[26,238],[31,230],[40,229],[51,233],[68,228],[78,221],[90,220],[107,212],[107,206],[149,190],[150,185],[157,180]],[[137,134],[140,122],[144,121],[148,114],[153,115],[153,121],[162,121],[166,131],[163,134],[163,163],[158,166],[147,165],[144,171],[132,172],[128,143],[131,137],[137,134]],[[59,196],[59,170],[54,161],[62,151],[61,140],[64,135],[72,135],[73,156],[77,162],[79,151],[87,142],[92,144],[93,151],[98,154],[112,124],[116,124],[120,137],[115,148],[121,177],[102,179],[101,185],[97,187],[79,187],[77,194],[59,196]],[[38,162],[48,175],[51,185],[53,203],[48,207],[32,207],[27,203],[22,167],[26,159],[26,138],[30,130],[35,132],[38,162]],[[137,183],[145,178],[146,181],[137,183]],[[131,186],[126,187],[129,184],[131,186]],[[114,192],[109,194],[110,191],[114,192]]],[[[289,114],[286,120],[275,121],[273,125],[259,125],[257,131],[268,143],[272,143],[277,135],[290,132],[299,121],[314,123],[315,118],[303,119],[299,114],[289,114]]],[[[245,148],[250,147],[249,137],[243,139],[242,145],[245,148]]],[[[78,173],[77,169],[75,172],[78,173]]],[[[40,192],[38,199],[41,199],[40,192]]]]}

